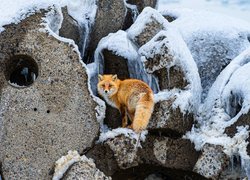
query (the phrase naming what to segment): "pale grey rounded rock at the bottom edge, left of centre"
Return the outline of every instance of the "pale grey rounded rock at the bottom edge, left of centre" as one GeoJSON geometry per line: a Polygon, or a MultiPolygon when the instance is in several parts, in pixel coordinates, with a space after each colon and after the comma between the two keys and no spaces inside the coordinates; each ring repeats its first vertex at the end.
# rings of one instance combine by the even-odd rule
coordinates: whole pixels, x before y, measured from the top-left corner
{"type": "Polygon", "coordinates": [[[63,180],[111,180],[103,172],[96,168],[92,160],[85,159],[84,161],[74,163],[65,173],[63,180]]]}

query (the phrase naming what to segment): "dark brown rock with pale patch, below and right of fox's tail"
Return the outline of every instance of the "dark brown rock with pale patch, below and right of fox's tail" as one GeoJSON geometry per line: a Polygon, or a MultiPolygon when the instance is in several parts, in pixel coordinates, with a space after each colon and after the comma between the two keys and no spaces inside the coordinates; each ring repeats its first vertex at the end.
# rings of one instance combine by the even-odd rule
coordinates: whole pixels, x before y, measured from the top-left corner
{"type": "Polygon", "coordinates": [[[157,164],[167,168],[192,171],[199,152],[187,139],[172,139],[169,137],[147,136],[138,154],[140,162],[157,164]]]}

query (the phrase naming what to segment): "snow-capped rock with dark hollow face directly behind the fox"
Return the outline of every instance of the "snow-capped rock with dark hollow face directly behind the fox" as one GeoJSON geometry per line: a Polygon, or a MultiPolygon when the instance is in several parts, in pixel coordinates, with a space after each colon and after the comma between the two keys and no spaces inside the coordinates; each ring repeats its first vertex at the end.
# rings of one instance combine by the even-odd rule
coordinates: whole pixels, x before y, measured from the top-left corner
{"type": "MultiPolygon", "coordinates": [[[[138,49],[133,42],[128,39],[125,31],[110,33],[103,38],[95,51],[96,71],[99,74],[115,73],[121,79],[135,78],[146,82],[154,92],[157,92],[158,87],[156,80],[152,75],[145,72],[138,49]],[[122,65],[120,67],[119,65],[122,65]]],[[[97,73],[94,74],[93,82],[97,83],[97,73]]],[[[95,84],[92,89],[96,92],[95,84]]]]}

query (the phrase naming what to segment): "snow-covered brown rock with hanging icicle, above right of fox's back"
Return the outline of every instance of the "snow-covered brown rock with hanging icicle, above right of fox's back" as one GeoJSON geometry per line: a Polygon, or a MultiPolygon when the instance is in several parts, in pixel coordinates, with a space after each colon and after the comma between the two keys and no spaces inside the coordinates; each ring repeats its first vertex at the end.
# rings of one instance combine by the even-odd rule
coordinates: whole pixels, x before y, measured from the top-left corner
{"type": "Polygon", "coordinates": [[[139,49],[139,54],[146,71],[158,77],[160,90],[185,89],[188,84],[194,84],[193,78],[199,81],[191,53],[174,29],[159,32],[139,49]]]}

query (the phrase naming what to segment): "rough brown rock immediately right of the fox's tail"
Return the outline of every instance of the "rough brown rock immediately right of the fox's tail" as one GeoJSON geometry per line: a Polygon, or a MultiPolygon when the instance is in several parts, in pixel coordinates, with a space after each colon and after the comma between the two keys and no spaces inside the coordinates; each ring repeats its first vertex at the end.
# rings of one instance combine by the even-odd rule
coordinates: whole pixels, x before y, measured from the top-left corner
{"type": "Polygon", "coordinates": [[[179,108],[173,109],[173,100],[165,100],[155,104],[149,121],[148,130],[160,132],[169,137],[181,137],[190,131],[194,122],[191,114],[184,115],[179,108]]]}

